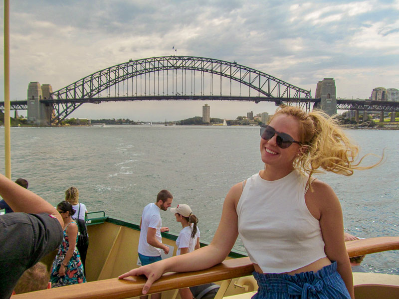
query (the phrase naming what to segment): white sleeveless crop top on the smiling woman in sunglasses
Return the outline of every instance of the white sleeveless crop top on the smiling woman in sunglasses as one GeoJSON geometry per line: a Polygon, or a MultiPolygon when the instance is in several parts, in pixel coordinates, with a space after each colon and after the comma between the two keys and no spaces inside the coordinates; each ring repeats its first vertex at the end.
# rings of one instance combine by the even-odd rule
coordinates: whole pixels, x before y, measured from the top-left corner
{"type": "Polygon", "coordinates": [[[326,257],[319,220],[305,203],[308,177],[294,170],[267,181],[247,179],[237,204],[238,232],[263,273],[290,272],[326,257]]]}

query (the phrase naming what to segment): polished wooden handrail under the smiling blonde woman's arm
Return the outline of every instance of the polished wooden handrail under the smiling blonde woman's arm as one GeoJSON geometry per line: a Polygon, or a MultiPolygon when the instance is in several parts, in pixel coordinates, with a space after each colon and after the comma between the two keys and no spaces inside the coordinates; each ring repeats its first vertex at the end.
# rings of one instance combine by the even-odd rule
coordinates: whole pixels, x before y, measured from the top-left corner
{"type": "MultiPolygon", "coordinates": [[[[399,237],[378,237],[346,242],[350,257],[399,249],[399,237]]],[[[206,283],[230,280],[251,275],[253,264],[248,257],[225,260],[202,271],[168,273],[155,282],[148,294],[176,290],[206,283]]],[[[86,284],[15,295],[12,299],[125,299],[142,295],[145,277],[117,278],[86,284]]]]}

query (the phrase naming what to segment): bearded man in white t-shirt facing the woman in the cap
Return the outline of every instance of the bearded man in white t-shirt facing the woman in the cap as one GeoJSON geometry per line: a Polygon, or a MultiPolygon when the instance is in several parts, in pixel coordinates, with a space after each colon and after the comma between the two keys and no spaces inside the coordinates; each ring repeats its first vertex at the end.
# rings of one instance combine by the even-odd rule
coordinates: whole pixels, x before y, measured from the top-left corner
{"type": "MultiPolygon", "coordinates": [[[[157,202],[145,206],[140,220],[139,259],[148,265],[161,261],[161,249],[169,253],[169,247],[162,244],[161,232],[168,232],[169,228],[162,227],[160,211],[166,211],[172,205],[173,196],[168,190],[161,190],[157,195],[157,202]]],[[[147,296],[142,296],[144,298],[147,296]]],[[[152,299],[161,298],[161,293],[151,295],[152,299]],[[156,297],[154,297],[156,296],[156,297]],[[158,297],[159,296],[159,297],[158,297]]]]}

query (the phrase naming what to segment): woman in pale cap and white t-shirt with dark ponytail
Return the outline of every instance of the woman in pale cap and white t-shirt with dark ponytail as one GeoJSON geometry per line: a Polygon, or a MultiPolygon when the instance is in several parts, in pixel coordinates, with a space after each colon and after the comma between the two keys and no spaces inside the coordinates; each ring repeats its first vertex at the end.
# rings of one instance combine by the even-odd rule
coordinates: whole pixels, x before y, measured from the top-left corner
{"type": "MultiPolygon", "coordinates": [[[[178,204],[176,208],[171,208],[171,212],[175,213],[176,221],[182,224],[183,229],[176,239],[178,251],[176,255],[181,255],[200,248],[200,230],[197,227],[198,218],[193,214],[188,204],[178,204]]],[[[179,290],[182,299],[192,299],[193,294],[189,288],[179,290]]]]}

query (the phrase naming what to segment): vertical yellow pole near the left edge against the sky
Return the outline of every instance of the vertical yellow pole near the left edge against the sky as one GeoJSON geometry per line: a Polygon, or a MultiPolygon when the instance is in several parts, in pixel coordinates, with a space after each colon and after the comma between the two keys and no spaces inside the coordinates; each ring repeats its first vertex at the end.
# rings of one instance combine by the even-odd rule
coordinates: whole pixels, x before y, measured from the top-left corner
{"type": "Polygon", "coordinates": [[[4,0],[4,161],[5,176],[11,179],[9,119],[9,0],[4,0]]]}

